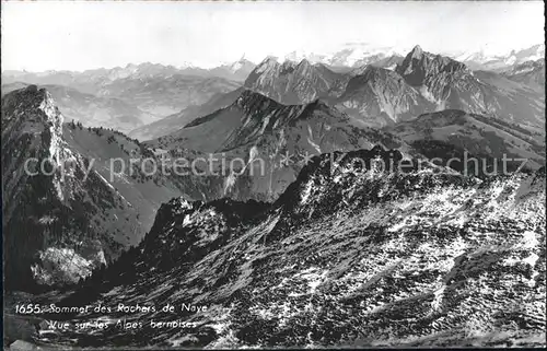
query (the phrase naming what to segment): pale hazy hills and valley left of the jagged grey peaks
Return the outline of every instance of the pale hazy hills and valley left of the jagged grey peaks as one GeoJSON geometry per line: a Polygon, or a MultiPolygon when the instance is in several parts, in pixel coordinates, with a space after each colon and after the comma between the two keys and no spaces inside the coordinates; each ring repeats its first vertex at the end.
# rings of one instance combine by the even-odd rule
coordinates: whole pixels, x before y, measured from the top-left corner
{"type": "Polygon", "coordinates": [[[128,132],[241,86],[253,68],[242,58],[210,70],[141,63],[83,72],[3,71],[2,91],[22,83],[49,86],[68,118],[128,132]],[[106,121],[107,115],[113,115],[114,120],[106,121]]]}

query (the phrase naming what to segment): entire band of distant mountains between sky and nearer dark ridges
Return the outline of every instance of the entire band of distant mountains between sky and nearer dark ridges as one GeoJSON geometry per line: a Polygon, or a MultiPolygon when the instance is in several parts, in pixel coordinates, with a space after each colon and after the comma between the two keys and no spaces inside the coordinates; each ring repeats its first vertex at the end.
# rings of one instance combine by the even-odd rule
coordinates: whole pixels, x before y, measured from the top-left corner
{"type": "Polygon", "coordinates": [[[394,48],[358,43],[328,55],[295,51],[282,60],[270,57],[258,66],[242,57],[212,69],[142,63],[84,72],[4,71],[2,91],[47,85],[67,118],[141,140],[225,107],[241,85],[282,104],[322,98],[368,126],[443,108],[536,125],[544,120],[545,62],[538,59],[544,55],[543,45],[513,50],[503,58],[505,63],[496,66],[497,75],[484,70],[500,57],[467,52],[453,56],[458,61],[421,48],[401,56],[394,48]],[[414,59],[406,59],[408,55],[414,59]]]}

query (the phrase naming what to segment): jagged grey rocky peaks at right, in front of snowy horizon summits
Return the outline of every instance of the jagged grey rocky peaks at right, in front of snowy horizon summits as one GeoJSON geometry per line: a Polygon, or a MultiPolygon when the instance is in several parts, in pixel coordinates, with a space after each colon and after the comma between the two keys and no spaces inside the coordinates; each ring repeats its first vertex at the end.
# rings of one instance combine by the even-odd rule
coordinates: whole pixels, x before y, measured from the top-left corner
{"type": "MultiPolygon", "coordinates": [[[[537,62],[538,70],[542,65],[537,62]]],[[[283,104],[324,98],[368,126],[445,108],[532,126],[544,124],[544,90],[537,83],[528,85],[524,79],[510,78],[474,72],[462,62],[417,46],[394,71],[370,65],[336,73],[307,60],[296,65],[268,58],[251,72],[245,86],[283,104]]]]}

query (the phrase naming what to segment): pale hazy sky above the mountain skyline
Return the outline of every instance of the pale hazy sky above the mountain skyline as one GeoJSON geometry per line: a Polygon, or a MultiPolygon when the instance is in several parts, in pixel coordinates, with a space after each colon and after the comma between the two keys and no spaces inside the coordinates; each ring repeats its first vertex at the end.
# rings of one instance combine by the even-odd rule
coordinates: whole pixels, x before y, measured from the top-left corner
{"type": "Polygon", "coordinates": [[[5,2],[2,70],[83,70],[322,51],[370,43],[503,52],[544,40],[534,2],[5,2]]]}

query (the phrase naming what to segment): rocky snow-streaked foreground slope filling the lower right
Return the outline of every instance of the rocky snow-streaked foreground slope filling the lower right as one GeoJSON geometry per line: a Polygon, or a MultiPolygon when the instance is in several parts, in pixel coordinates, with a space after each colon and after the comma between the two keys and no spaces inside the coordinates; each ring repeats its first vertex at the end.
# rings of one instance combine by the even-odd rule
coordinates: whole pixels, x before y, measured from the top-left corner
{"type": "Polygon", "coordinates": [[[271,206],[173,199],[138,248],[59,304],[112,311],[44,314],[69,327],[43,323],[35,341],[545,346],[545,168],[479,180],[380,160],[403,155],[316,156],[271,206]],[[96,320],[107,327],[74,327],[96,320]]]}

